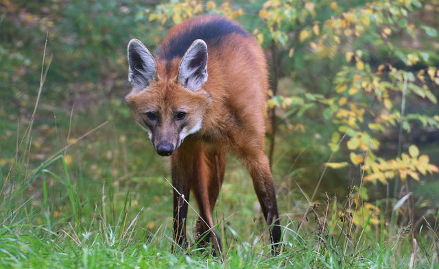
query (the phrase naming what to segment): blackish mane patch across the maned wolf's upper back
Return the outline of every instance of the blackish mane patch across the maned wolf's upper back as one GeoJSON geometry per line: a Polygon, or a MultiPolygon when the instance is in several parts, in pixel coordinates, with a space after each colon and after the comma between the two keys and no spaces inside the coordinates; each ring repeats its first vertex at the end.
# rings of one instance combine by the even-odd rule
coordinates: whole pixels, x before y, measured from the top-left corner
{"type": "Polygon", "coordinates": [[[213,17],[206,23],[192,23],[189,29],[180,32],[163,44],[157,55],[163,60],[170,61],[174,57],[185,55],[189,46],[196,39],[202,39],[207,47],[215,47],[221,43],[221,39],[228,34],[240,34],[249,36],[248,32],[240,25],[220,16],[213,17]]]}

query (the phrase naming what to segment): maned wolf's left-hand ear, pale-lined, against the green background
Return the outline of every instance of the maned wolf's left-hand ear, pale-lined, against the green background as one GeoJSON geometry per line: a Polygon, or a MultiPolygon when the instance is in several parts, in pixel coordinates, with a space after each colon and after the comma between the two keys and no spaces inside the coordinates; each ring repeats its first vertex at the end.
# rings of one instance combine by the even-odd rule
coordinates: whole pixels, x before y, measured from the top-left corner
{"type": "Polygon", "coordinates": [[[150,51],[137,39],[132,39],[128,43],[128,81],[136,90],[143,90],[156,79],[157,66],[150,51]]]}

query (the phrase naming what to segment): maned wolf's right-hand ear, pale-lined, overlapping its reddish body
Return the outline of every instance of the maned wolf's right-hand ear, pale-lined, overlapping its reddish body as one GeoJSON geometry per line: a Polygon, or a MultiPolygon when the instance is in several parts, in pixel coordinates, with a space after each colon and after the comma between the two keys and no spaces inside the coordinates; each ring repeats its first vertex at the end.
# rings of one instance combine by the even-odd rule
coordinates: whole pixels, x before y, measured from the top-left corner
{"type": "Polygon", "coordinates": [[[180,84],[195,92],[207,80],[207,45],[201,40],[193,41],[182,57],[178,68],[178,81],[180,84]]]}

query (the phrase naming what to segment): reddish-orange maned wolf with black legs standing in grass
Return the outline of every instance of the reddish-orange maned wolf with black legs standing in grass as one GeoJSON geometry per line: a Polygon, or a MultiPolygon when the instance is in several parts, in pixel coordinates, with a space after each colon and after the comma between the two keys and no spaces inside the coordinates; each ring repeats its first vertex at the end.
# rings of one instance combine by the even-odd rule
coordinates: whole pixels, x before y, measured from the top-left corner
{"type": "Polygon", "coordinates": [[[171,156],[175,242],[187,244],[186,201],[192,190],[200,209],[195,227],[200,242],[213,238],[221,252],[212,212],[228,150],[250,172],[276,253],[281,227],[263,153],[268,73],[257,41],[234,21],[200,16],[171,28],[155,57],[132,39],[128,61],[132,116],[157,153],[171,156]]]}

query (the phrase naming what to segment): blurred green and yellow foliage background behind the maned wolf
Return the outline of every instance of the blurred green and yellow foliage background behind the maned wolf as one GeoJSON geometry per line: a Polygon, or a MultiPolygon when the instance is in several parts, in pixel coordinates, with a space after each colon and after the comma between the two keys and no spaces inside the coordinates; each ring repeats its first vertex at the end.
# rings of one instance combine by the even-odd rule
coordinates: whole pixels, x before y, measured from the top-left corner
{"type": "MultiPolygon", "coordinates": [[[[168,160],[123,101],[126,47],[138,38],[154,54],[171,26],[200,14],[235,19],[265,50],[281,214],[346,196],[375,223],[401,198],[401,222],[437,213],[438,0],[1,0],[0,12],[0,205],[41,212],[32,223],[86,222],[99,204],[108,221],[144,208],[148,231],[170,225],[168,160]],[[51,164],[58,155],[65,167],[51,164]]],[[[239,212],[227,221],[263,230],[259,210],[228,156],[215,218],[239,212]]]]}

